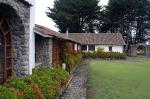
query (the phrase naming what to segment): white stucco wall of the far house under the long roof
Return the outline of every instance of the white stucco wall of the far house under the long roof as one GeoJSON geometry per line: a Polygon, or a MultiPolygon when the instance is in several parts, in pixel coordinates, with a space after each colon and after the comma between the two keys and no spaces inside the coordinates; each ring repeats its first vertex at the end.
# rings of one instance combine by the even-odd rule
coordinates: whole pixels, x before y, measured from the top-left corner
{"type": "Polygon", "coordinates": [[[104,48],[105,52],[109,52],[109,46],[112,46],[112,52],[123,53],[123,46],[117,45],[95,45],[95,51],[97,51],[98,48],[104,48]]]}

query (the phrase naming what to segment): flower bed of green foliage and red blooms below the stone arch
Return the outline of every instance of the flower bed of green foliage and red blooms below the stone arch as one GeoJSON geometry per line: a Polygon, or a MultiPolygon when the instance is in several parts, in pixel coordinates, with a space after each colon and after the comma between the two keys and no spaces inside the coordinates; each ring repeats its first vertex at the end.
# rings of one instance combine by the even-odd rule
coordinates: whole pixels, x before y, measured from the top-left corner
{"type": "Polygon", "coordinates": [[[25,78],[13,77],[0,86],[0,99],[52,99],[67,83],[69,73],[62,68],[36,68],[25,78]]]}

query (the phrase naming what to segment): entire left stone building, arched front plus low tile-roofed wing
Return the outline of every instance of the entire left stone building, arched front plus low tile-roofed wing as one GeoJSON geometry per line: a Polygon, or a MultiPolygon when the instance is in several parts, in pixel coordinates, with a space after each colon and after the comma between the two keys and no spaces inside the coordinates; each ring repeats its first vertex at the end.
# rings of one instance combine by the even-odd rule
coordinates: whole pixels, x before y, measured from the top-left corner
{"type": "Polygon", "coordinates": [[[32,74],[35,66],[61,65],[66,35],[35,26],[35,0],[0,0],[0,82],[32,74]]]}

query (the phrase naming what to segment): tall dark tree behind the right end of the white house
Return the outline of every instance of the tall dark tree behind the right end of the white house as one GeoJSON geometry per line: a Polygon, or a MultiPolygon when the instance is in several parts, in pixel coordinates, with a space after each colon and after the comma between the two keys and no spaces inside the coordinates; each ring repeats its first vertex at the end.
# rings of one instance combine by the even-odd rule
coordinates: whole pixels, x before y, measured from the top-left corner
{"type": "Polygon", "coordinates": [[[130,44],[146,41],[147,23],[150,21],[150,3],[147,0],[109,0],[105,16],[107,21],[104,20],[103,28],[122,33],[126,49],[130,44]]]}

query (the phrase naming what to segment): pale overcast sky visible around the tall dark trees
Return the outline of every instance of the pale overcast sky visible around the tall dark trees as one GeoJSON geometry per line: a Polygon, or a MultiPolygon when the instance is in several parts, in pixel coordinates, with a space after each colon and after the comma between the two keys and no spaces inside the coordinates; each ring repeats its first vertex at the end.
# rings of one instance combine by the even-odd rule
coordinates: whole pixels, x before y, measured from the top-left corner
{"type": "MultiPolygon", "coordinates": [[[[53,7],[54,0],[36,0],[35,4],[35,23],[43,25],[52,30],[58,31],[55,27],[55,23],[46,16],[47,7],[53,7]]],[[[107,5],[108,0],[101,0],[101,5],[107,5]]]]}

